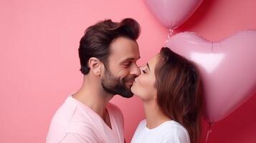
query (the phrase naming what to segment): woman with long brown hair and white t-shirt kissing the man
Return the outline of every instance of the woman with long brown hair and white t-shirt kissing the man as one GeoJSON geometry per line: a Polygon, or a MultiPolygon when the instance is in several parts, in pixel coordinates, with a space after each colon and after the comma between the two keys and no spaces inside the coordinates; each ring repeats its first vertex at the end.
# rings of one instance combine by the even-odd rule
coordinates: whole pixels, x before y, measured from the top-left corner
{"type": "Polygon", "coordinates": [[[146,119],[131,142],[199,142],[202,88],[194,64],[162,48],[141,71],[131,91],[142,99],[146,119]]]}

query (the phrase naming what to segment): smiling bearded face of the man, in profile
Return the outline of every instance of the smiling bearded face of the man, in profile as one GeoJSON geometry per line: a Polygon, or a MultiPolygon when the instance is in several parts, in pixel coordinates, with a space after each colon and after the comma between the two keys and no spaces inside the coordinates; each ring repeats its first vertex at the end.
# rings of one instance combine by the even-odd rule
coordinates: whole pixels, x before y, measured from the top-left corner
{"type": "Polygon", "coordinates": [[[119,37],[110,44],[108,65],[105,65],[101,78],[103,89],[110,94],[120,94],[122,97],[133,97],[131,86],[134,79],[141,74],[136,61],[140,58],[136,41],[119,37]]]}

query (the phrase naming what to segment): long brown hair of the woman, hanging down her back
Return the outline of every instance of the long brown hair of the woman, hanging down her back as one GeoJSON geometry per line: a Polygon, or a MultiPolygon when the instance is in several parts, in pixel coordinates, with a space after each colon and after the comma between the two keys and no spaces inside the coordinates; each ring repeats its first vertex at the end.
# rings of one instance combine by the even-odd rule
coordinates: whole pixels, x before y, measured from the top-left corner
{"type": "Polygon", "coordinates": [[[186,128],[191,143],[199,142],[203,99],[196,66],[163,47],[155,75],[158,106],[166,116],[186,128]]]}

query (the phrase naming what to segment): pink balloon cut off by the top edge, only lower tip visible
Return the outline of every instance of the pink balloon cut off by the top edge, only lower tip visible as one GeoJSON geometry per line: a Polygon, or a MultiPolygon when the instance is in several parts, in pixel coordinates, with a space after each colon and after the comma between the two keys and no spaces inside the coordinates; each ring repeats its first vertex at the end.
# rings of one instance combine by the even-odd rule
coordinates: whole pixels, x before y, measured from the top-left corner
{"type": "Polygon", "coordinates": [[[167,28],[174,29],[191,16],[203,0],[144,0],[148,9],[167,28]]]}

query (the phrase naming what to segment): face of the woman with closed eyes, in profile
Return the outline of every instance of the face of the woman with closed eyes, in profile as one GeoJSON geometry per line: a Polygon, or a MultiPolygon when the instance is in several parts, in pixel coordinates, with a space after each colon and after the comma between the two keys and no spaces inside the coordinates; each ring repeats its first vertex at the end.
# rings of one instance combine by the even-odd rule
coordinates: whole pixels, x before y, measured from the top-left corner
{"type": "Polygon", "coordinates": [[[141,74],[136,77],[131,87],[131,92],[140,97],[143,101],[156,99],[156,77],[155,66],[158,63],[160,54],[156,54],[145,66],[141,66],[141,74]]]}

